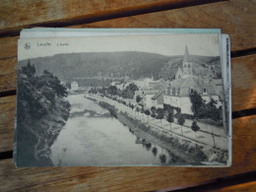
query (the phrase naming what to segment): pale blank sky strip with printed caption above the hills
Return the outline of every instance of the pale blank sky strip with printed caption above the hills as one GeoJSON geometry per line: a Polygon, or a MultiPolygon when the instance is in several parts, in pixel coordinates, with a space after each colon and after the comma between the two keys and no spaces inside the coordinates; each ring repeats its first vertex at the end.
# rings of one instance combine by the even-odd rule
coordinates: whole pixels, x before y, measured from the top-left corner
{"type": "Polygon", "coordinates": [[[218,33],[172,33],[20,39],[18,60],[74,52],[143,51],[172,56],[183,55],[186,45],[192,55],[220,56],[218,33]],[[68,45],[58,46],[60,43],[68,45]]]}

